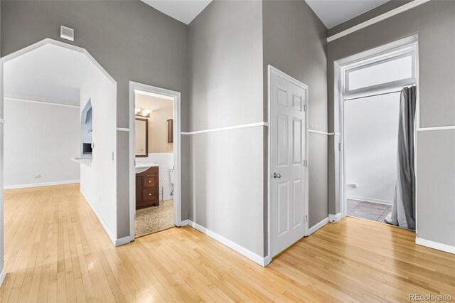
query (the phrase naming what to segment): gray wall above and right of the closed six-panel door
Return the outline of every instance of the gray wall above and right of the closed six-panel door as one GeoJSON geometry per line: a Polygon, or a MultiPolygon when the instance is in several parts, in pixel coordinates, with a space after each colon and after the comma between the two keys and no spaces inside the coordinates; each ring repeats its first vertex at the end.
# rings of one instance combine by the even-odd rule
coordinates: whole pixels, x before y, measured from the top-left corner
{"type": "MultiPolygon", "coordinates": [[[[264,92],[269,64],[309,85],[309,129],[327,132],[327,28],[305,1],[264,1],[263,12],[264,92]]],[[[267,111],[265,93],[264,121],[267,111]]],[[[328,216],[327,142],[309,134],[309,227],[328,216]]]]}

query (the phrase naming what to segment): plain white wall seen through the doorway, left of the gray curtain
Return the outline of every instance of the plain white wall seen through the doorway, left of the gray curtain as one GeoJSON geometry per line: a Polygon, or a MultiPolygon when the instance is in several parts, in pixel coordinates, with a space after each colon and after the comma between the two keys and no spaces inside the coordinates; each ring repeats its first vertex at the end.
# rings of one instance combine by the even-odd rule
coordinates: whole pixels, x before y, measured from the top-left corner
{"type": "Polygon", "coordinates": [[[348,198],[392,204],[397,180],[400,92],[346,101],[348,198]]]}

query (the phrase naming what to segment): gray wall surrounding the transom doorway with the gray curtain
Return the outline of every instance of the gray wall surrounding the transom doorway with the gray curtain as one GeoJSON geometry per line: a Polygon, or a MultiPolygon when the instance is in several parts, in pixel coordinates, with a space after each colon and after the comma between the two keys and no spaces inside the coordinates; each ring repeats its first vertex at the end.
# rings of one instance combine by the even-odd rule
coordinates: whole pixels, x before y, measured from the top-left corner
{"type": "MultiPolygon", "coordinates": [[[[420,127],[455,125],[455,90],[451,89],[455,83],[454,16],[455,1],[430,1],[328,43],[329,132],[338,131],[333,115],[333,61],[415,33],[419,36],[420,127]]],[[[455,222],[449,216],[455,213],[454,193],[449,190],[453,187],[449,184],[455,184],[453,139],[453,131],[441,130],[419,133],[417,140],[418,236],[447,245],[455,245],[455,222]],[[434,174],[435,167],[438,174],[434,174]],[[436,220],[444,222],[444,228],[436,220]]],[[[338,212],[336,156],[336,151],[329,150],[330,206],[338,212]]]]}

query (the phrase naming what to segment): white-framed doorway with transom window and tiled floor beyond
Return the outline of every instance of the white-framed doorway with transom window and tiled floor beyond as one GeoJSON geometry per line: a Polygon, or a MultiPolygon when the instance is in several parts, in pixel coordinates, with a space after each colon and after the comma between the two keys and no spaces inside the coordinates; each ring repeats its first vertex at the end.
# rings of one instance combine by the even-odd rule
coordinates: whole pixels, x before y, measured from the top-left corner
{"type": "MultiPolygon", "coordinates": [[[[403,94],[414,91],[417,85],[417,37],[391,43],[373,53],[340,60],[336,68],[341,135],[341,216],[392,223],[391,216],[396,214],[397,208],[398,216],[404,216],[400,188],[403,186],[402,155],[405,151],[400,142],[403,142],[405,132],[402,128],[405,122],[403,106],[407,107],[409,100],[403,99],[403,94]]],[[[418,119],[417,100],[414,104],[413,115],[418,119]]],[[[409,121],[412,132],[407,137],[412,148],[407,154],[410,154],[412,164],[405,170],[412,174],[411,185],[407,187],[415,194],[418,122],[414,117],[409,121]]],[[[415,218],[417,198],[407,200],[414,203],[414,213],[410,216],[415,218]]]]}

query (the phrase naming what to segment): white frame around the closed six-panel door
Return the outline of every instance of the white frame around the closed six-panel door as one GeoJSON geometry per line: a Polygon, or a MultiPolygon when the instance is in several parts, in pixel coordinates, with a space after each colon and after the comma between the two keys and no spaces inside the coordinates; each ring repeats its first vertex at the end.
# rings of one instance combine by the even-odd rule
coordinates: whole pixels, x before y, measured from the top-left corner
{"type": "Polygon", "coordinates": [[[264,266],[269,264],[269,262],[272,262],[272,213],[271,213],[271,204],[272,204],[272,188],[270,187],[270,181],[271,181],[271,176],[272,176],[272,124],[273,120],[272,118],[272,107],[271,107],[271,100],[272,100],[272,90],[271,90],[271,84],[272,84],[272,74],[278,75],[279,77],[284,78],[285,80],[294,83],[295,85],[298,85],[300,87],[304,87],[306,90],[306,112],[305,112],[305,129],[304,129],[304,134],[305,134],[305,154],[304,154],[304,159],[306,159],[306,169],[305,169],[305,196],[304,196],[304,218],[305,218],[305,224],[304,224],[304,236],[308,235],[308,216],[309,216],[309,206],[308,206],[308,201],[309,201],[309,87],[308,85],[301,83],[299,80],[296,80],[295,78],[292,78],[290,75],[287,75],[287,73],[282,72],[281,70],[274,68],[272,65],[268,65],[268,85],[267,85],[267,101],[268,101],[268,107],[269,107],[269,127],[268,127],[268,146],[267,146],[267,163],[269,164],[267,166],[267,242],[268,242],[268,255],[267,257],[264,258],[264,266]]]}

